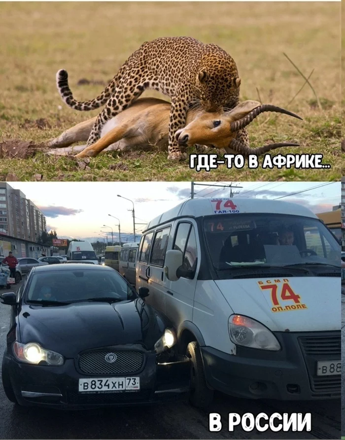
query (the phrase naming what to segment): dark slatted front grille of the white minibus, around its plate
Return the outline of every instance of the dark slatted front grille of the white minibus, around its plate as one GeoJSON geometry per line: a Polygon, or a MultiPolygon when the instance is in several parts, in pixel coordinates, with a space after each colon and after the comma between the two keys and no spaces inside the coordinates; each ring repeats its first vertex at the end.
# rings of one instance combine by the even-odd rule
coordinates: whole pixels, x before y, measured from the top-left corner
{"type": "Polygon", "coordinates": [[[338,397],[341,393],[341,375],[317,376],[316,365],[322,360],[341,360],[341,333],[325,332],[323,335],[299,337],[306,361],[311,391],[324,397],[338,397]]]}

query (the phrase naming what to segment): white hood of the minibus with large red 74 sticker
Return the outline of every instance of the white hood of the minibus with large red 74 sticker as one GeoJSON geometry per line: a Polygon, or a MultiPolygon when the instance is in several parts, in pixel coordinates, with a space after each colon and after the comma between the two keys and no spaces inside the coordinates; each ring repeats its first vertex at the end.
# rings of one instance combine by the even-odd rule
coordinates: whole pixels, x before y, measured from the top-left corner
{"type": "Polygon", "coordinates": [[[255,278],[215,283],[235,314],[256,319],[272,331],[341,328],[340,277],[255,278]],[[276,287],[265,287],[268,285],[276,287]]]}

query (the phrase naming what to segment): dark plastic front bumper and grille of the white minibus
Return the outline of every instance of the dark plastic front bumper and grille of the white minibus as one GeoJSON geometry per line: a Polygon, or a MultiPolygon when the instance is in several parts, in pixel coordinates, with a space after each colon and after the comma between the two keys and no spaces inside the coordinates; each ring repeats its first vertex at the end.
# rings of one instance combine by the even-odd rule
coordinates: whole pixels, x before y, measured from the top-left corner
{"type": "Polygon", "coordinates": [[[279,353],[238,347],[237,355],[230,355],[201,347],[208,385],[232,396],[251,399],[340,398],[340,375],[316,375],[317,361],[341,360],[340,332],[276,336],[283,347],[279,353]]]}

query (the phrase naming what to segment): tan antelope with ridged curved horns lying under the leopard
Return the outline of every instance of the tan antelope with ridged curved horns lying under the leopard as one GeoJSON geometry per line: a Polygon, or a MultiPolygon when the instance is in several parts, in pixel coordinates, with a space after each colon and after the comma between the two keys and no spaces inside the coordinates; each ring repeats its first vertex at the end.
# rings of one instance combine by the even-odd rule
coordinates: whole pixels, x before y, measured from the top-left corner
{"type": "MultiPolygon", "coordinates": [[[[243,101],[230,111],[208,113],[202,108],[191,108],[187,113],[187,125],[177,130],[175,138],[180,146],[204,145],[224,149],[226,153],[248,156],[262,155],[280,147],[299,146],[296,143],[274,143],[250,148],[249,142],[238,139],[241,132],[259,114],[277,112],[302,119],[288,110],[258,101],[243,101]]],[[[97,156],[103,151],[130,151],[134,149],[152,150],[153,146],[163,150],[168,148],[170,103],[157,98],[140,98],[123,110],[102,130],[101,139],[93,145],[69,147],[74,142],[87,141],[97,117],[77,124],[59,137],[48,141],[48,146],[61,149],[57,154],[78,153],[76,157],[97,156]],[[69,147],[63,148],[62,147],[69,147]]],[[[54,151],[51,151],[56,154],[54,151]]]]}

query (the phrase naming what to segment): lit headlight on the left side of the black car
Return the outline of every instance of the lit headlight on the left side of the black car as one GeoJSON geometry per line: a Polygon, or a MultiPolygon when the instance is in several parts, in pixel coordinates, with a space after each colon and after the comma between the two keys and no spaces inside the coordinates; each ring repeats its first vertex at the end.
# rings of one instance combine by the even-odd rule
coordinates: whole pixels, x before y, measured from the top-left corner
{"type": "Polygon", "coordinates": [[[63,365],[64,357],[55,351],[46,350],[35,342],[28,344],[21,344],[15,341],[13,343],[13,352],[19,361],[27,362],[28,364],[39,364],[44,361],[48,365],[63,365]]]}

